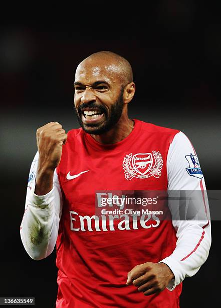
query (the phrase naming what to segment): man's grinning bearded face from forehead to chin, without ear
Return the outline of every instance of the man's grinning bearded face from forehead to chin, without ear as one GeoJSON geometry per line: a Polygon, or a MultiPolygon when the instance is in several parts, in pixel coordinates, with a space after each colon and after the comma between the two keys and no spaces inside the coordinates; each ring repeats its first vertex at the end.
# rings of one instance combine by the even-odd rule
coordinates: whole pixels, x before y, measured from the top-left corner
{"type": "Polygon", "coordinates": [[[75,111],[81,127],[90,134],[102,134],[121,117],[124,89],[113,64],[86,61],[75,75],[75,111]]]}

